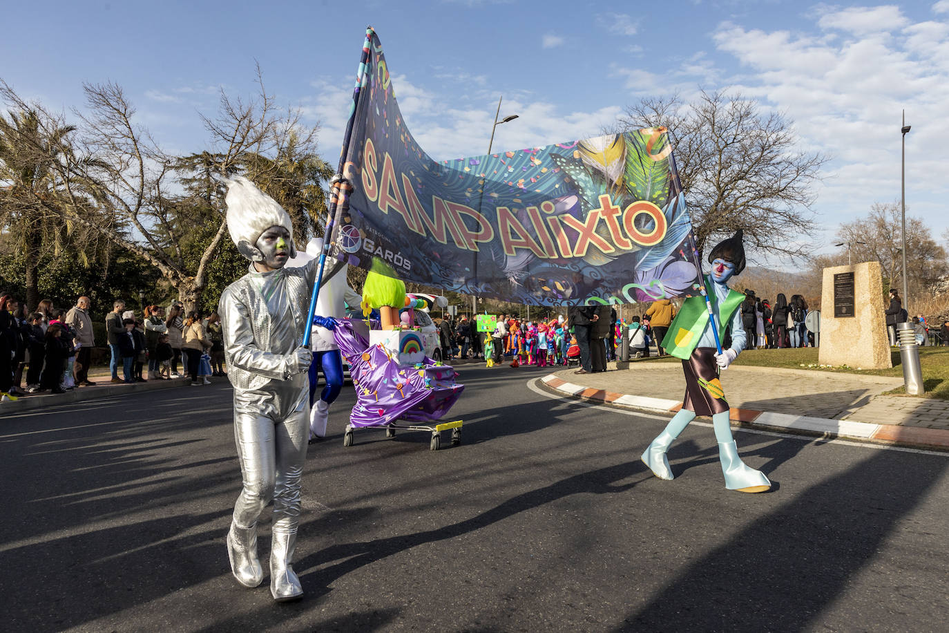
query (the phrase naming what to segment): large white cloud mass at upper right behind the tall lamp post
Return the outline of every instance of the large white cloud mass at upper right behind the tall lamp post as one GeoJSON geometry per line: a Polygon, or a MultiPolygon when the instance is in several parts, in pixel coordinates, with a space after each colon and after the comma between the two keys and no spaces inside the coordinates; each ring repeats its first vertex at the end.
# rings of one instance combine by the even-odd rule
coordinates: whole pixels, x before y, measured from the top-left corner
{"type": "Polygon", "coordinates": [[[949,25],[910,24],[894,7],[825,13],[828,34],[719,25],[716,47],[743,66],[735,88],[795,121],[802,146],[833,157],[815,211],[828,232],[864,215],[874,201],[900,195],[901,112],[906,137],[907,206],[939,234],[947,224],[941,200],[949,163],[949,25]],[[937,208],[942,207],[939,213],[937,208]]]}

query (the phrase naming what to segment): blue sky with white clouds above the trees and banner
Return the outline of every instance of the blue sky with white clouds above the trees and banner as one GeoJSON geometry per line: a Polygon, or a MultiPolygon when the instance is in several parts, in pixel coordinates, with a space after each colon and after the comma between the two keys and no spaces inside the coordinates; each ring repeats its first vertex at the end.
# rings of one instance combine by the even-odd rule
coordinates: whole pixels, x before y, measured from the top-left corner
{"type": "Polygon", "coordinates": [[[754,0],[666,2],[45,2],[4,9],[0,77],[54,109],[82,83],[121,84],[171,152],[203,149],[198,112],[218,91],[270,93],[319,122],[336,164],[363,33],[380,36],[400,109],[433,158],[599,134],[643,96],[733,86],[795,121],[802,147],[834,157],[813,209],[840,222],[900,196],[949,227],[949,0],[899,5],[754,0]],[[332,8],[332,9],[331,9],[332,8]]]}

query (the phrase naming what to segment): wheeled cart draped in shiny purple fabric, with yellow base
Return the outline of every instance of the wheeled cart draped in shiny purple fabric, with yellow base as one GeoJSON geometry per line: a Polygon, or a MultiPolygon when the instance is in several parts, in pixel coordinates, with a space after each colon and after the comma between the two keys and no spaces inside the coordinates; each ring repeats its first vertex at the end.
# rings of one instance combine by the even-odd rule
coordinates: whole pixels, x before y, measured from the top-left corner
{"type": "Polygon", "coordinates": [[[428,357],[414,365],[400,364],[398,356],[381,344],[370,345],[349,319],[341,320],[333,334],[349,365],[357,397],[346,424],[344,446],[352,446],[358,428],[384,428],[386,438],[394,438],[397,429],[428,431],[433,451],[438,450],[441,432],[451,429],[452,446],[461,443],[460,419],[437,422],[465,388],[455,382],[454,367],[428,357]]]}

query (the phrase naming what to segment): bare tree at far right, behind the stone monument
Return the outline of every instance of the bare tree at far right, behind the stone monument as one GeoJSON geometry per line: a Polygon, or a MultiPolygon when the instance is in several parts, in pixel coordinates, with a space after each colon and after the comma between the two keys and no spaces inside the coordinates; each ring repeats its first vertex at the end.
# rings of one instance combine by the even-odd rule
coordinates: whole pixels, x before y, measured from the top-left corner
{"type": "MultiPolygon", "coordinates": [[[[880,262],[884,284],[902,289],[902,210],[900,202],[876,202],[870,213],[842,224],[837,240],[844,242],[854,262],[880,262]]],[[[910,297],[931,298],[949,273],[946,250],[933,239],[929,227],[918,217],[906,216],[906,286],[910,297]]]]}

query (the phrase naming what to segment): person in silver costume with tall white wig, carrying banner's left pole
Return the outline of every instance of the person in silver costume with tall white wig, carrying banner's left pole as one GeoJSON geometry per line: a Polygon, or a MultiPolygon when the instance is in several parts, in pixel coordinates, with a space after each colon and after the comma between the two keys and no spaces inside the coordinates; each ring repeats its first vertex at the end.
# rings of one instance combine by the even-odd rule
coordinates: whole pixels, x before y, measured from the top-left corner
{"type": "Polygon", "coordinates": [[[233,384],[234,439],[243,489],[234,504],[227,547],[234,577],[258,586],[257,521],[273,500],[270,593],[303,595],[290,567],[300,521],[300,479],[307,457],[307,371],[302,345],[319,260],[287,269],[295,254],[287,212],[250,180],[228,182],[228,231],[251,260],[248,273],[221,294],[224,353],[233,384]]]}

